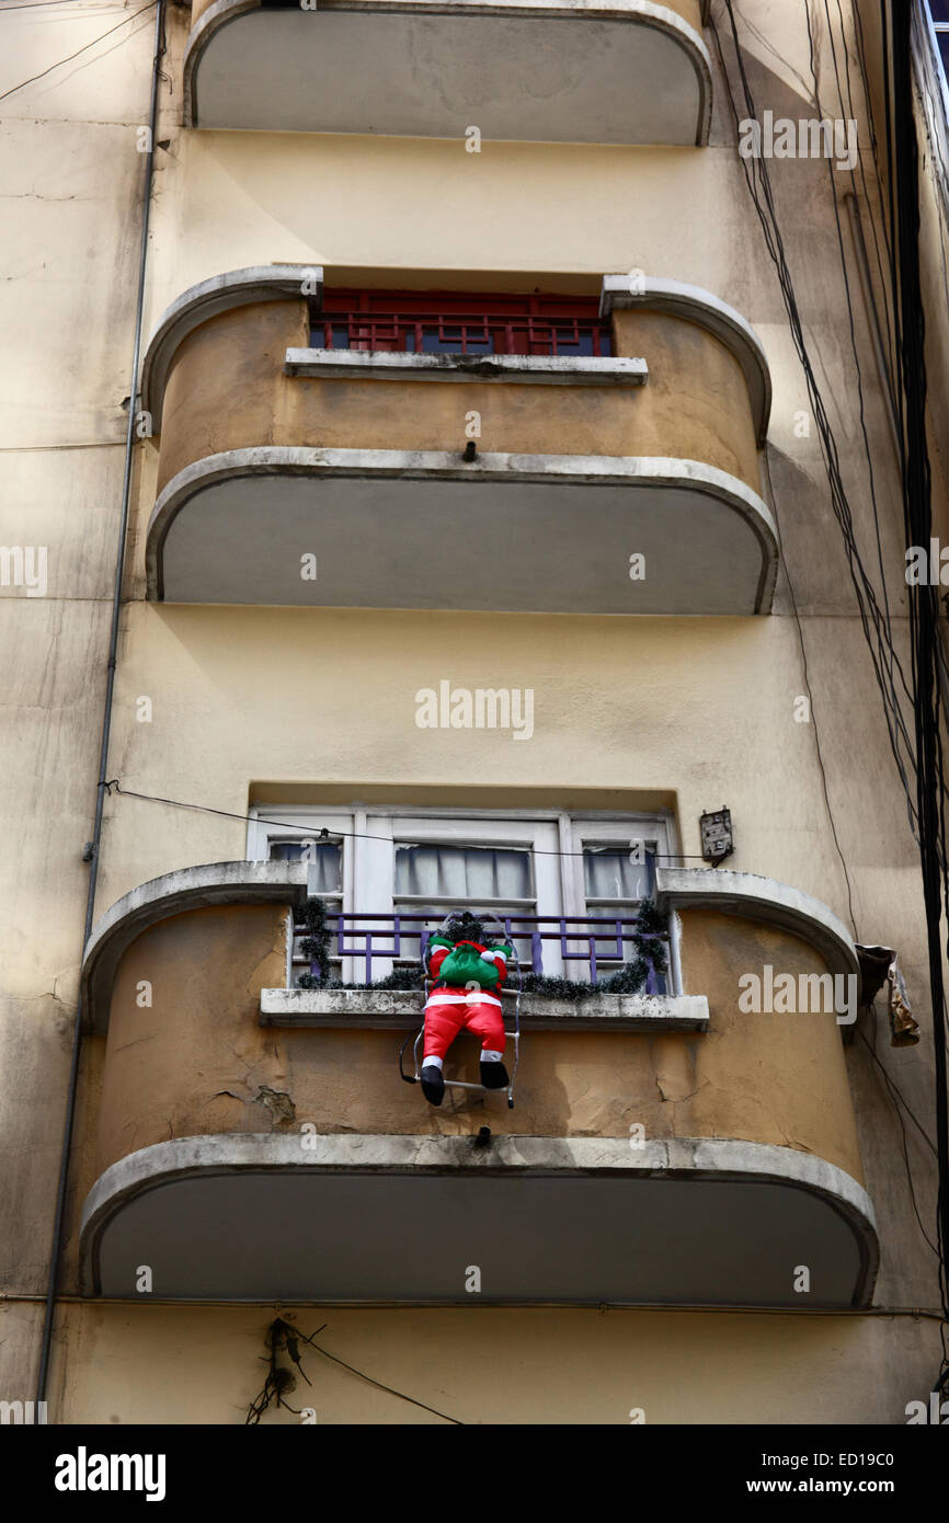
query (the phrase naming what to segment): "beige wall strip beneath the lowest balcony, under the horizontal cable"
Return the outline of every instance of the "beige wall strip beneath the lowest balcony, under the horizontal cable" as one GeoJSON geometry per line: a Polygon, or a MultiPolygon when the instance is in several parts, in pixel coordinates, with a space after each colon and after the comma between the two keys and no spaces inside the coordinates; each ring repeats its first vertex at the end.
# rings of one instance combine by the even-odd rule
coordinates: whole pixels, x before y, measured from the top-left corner
{"type": "MultiPolygon", "coordinates": [[[[264,1337],[279,1307],[67,1305],[62,1421],[244,1422],[264,1383],[264,1337]],[[137,1360],[137,1366],[136,1366],[137,1360]],[[143,1378],[146,1372],[146,1378],[143,1378]]],[[[759,1313],[283,1310],[356,1369],[463,1422],[905,1422],[926,1400],[935,1323],[911,1317],[759,1313]],[[899,1360],[893,1352],[899,1348],[899,1360]],[[451,1351],[451,1357],[448,1352],[451,1351]]],[[[296,1407],[317,1426],[437,1424],[320,1354],[303,1354],[296,1407]]],[[[300,1418],[271,1409],[265,1424],[300,1418]]],[[[882,1435],[874,1435],[880,1448],[882,1435]]],[[[858,1447],[858,1445],[853,1445],[858,1447]]],[[[868,1441],[864,1444],[864,1450],[868,1441]]]]}

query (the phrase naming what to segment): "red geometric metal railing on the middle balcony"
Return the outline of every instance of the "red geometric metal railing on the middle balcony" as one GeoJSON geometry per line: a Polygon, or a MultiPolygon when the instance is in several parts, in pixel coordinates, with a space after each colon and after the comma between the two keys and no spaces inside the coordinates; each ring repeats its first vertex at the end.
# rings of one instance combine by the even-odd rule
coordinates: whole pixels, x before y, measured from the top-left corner
{"type": "Polygon", "coordinates": [[[609,321],[559,314],[324,312],[314,320],[312,349],[408,355],[612,355],[609,321]]]}

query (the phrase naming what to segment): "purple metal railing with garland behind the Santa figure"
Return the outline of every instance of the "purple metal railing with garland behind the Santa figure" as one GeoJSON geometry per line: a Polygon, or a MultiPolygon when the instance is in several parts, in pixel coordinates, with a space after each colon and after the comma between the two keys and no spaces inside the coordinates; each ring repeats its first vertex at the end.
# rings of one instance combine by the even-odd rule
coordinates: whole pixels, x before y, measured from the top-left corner
{"type": "MultiPolygon", "coordinates": [[[[544,973],[544,941],[558,941],[564,963],[586,963],[590,982],[597,982],[600,963],[621,963],[625,946],[632,943],[638,926],[635,915],[518,915],[501,914],[497,917],[504,926],[504,932],[512,941],[530,938],[530,972],[544,973]],[[521,929],[516,929],[521,928],[521,929]],[[550,928],[550,929],[544,929],[550,928]],[[603,928],[603,929],[600,929],[603,928]],[[583,952],[571,952],[568,943],[585,941],[583,952]],[[603,946],[602,943],[606,943],[603,946]]],[[[401,912],[395,915],[349,914],[346,911],[328,909],[326,924],[334,938],[334,961],[338,958],[358,958],[364,961],[366,982],[373,978],[373,959],[417,961],[428,946],[430,937],[436,935],[431,915],[401,912]],[[376,937],[388,938],[378,944],[376,937]],[[414,947],[404,946],[414,943],[414,947]]],[[[294,923],[294,938],[308,935],[305,923],[294,923]]],[[[647,934],[650,941],[669,944],[669,932],[661,935],[647,934]]],[[[649,959],[647,959],[649,961],[649,959]]],[[[318,963],[303,955],[294,955],[294,966],[308,967],[314,978],[320,976],[318,963]]],[[[524,969],[524,961],[521,961],[524,969]]],[[[615,972],[615,967],[611,969],[615,972]]],[[[646,976],[646,993],[664,993],[664,978],[657,975],[652,963],[646,976]]]]}

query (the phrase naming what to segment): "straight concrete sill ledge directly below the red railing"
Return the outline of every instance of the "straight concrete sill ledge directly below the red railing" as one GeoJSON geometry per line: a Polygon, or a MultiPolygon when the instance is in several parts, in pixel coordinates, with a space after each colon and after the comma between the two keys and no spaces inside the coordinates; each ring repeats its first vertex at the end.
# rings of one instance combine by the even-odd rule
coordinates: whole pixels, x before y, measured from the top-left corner
{"type": "Polygon", "coordinates": [[[286,375],[320,381],[506,381],[524,385],[646,385],[644,359],[571,355],[404,355],[288,349],[286,375]]]}

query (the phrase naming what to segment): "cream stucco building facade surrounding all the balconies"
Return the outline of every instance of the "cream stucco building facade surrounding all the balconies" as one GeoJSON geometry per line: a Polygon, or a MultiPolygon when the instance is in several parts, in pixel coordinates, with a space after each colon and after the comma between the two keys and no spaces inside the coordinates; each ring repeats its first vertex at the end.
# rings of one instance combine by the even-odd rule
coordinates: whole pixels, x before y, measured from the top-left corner
{"type": "MultiPolygon", "coordinates": [[[[742,17],[756,29],[742,35],[760,101],[775,113],[809,116],[800,9],[749,0],[742,17]]],[[[9,46],[0,93],[104,29],[101,9],[84,0],[69,17],[55,12],[55,21],[37,9],[9,12],[3,24],[9,46]]],[[[5,544],[50,550],[44,599],[0,589],[9,702],[0,777],[8,842],[0,859],[0,1288],[8,1298],[0,1362],[8,1397],[32,1392],[40,1308],[23,1298],[46,1288],[69,1075],[88,871],[81,850],[91,833],[129,390],[142,174],[136,133],[148,110],[151,24],[149,12],[90,50],[81,69],[53,70],[3,102],[0,524],[5,544]]],[[[728,803],[736,867],[810,891],[847,918],[815,726],[794,719],[795,699],[807,691],[803,641],[858,932],[899,947],[923,1023],[920,1048],[891,1051],[880,1016],[877,1054],[931,1124],[925,940],[905,800],[829,513],[818,439],[813,428],[801,431],[804,384],[748,203],[714,49],[707,149],[487,143],[472,155],[460,142],[183,133],[189,24],[186,9],[169,8],[165,72],[175,88],[161,87],[158,136],[168,148],[157,154],[146,334],[195,282],[282,260],[321,263],[328,277],[347,271],[338,283],[350,283],[359,267],[388,267],[387,285],[402,271],[414,280],[417,271],[443,270],[463,273],[469,288],[477,277],[478,285],[512,280],[532,289],[545,274],[568,271],[596,288],[603,271],[643,268],[710,289],[752,323],[768,352],[775,391],[768,468],[801,629],[798,635],[784,574],[775,614],[757,621],[148,606],[142,545],[158,446],[143,442],[136,446],[108,775],[238,815],[251,793],[280,798],[283,787],[314,803],[326,790],[359,798],[398,789],[425,804],[446,797],[465,803],[477,784],[481,807],[542,793],[548,804],[554,795],[608,797],[620,809],[658,793],[676,803],[685,853],[699,850],[699,812],[728,803]],[[430,731],[420,745],[413,694],[443,676],[471,687],[533,685],[535,740],[513,745],[481,734],[475,749],[469,736],[430,731]],[[151,723],[136,719],[140,694],[154,701],[151,723]]],[[[826,53],[820,69],[832,99],[826,53]]],[[[778,178],[781,166],[774,168],[788,260],[841,440],[855,535],[879,580],[827,171],[791,163],[778,178]]],[[[859,302],[855,326],[864,375],[873,378],[859,302]]],[[[235,402],[239,390],[222,407],[235,402]]],[[[695,398],[687,405],[692,411],[695,398]]],[[[867,429],[883,577],[902,641],[902,516],[874,384],[867,387],[867,429]]],[[[97,912],[161,871],[241,856],[245,839],[239,821],[113,795],[97,912]]],[[[91,1168],[85,1154],[94,1145],[101,1048],[90,1040],[82,1063],[70,1223],[91,1168]]],[[[880,1226],[877,1301],[932,1307],[932,1256],[909,1202],[899,1121],[861,1040],[845,1062],[880,1226]]],[[[672,1087],[678,1094],[681,1084],[672,1087]]],[[[908,1153],[920,1212],[931,1220],[929,1154],[912,1127],[908,1153]]],[[[239,1422],[257,1389],[270,1316],[270,1308],[67,1304],[55,1343],[55,1415],[239,1422]]],[[[721,1415],[777,1422],[899,1422],[905,1401],[928,1389],[938,1346],[937,1325],[909,1317],[486,1313],[501,1319],[492,1328],[504,1330],[512,1352],[498,1378],[495,1340],[483,1333],[481,1316],[334,1313],[340,1342],[328,1346],[472,1421],[558,1421],[565,1413],[568,1421],[626,1421],[629,1407],[646,1406],[650,1421],[721,1415]],[[443,1359],[446,1342],[459,1352],[454,1374],[443,1359]]],[[[320,1320],[314,1316],[306,1330],[320,1320]]],[[[329,1395],[326,1413],[318,1403],[320,1421],[411,1419],[414,1409],[347,1384],[332,1366],[320,1378],[329,1395]]]]}

